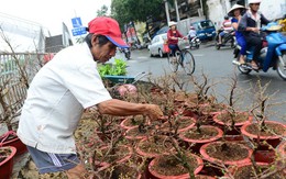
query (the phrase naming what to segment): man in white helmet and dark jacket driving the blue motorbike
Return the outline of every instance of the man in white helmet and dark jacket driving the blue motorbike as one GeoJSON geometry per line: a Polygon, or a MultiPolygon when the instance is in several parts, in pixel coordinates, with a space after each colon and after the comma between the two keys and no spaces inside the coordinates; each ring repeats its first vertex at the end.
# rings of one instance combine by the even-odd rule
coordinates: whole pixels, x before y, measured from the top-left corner
{"type": "Polygon", "coordinates": [[[249,0],[250,9],[243,14],[239,23],[239,31],[243,31],[243,36],[248,45],[254,46],[253,59],[251,60],[251,66],[254,70],[258,69],[257,59],[262,48],[261,25],[271,22],[258,12],[261,1],[262,0],[249,0]]]}

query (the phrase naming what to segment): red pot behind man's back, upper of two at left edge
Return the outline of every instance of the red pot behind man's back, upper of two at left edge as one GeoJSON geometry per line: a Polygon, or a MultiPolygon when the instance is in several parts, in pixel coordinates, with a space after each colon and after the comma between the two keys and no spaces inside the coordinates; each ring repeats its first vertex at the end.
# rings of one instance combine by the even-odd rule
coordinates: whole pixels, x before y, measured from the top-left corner
{"type": "Polygon", "coordinates": [[[16,133],[9,131],[0,137],[0,147],[1,146],[13,146],[16,148],[16,156],[28,152],[26,145],[24,145],[21,139],[18,137],[16,133]],[[10,139],[11,137],[11,139],[10,139]]]}

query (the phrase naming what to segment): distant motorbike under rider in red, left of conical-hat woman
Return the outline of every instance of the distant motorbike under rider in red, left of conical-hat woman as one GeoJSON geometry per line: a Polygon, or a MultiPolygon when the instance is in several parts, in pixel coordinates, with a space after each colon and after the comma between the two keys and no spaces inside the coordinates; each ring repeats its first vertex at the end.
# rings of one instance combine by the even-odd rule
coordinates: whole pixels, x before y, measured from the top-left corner
{"type": "Polygon", "coordinates": [[[230,45],[231,48],[234,48],[237,45],[237,40],[235,40],[235,32],[234,30],[232,30],[231,32],[227,33],[224,36],[222,36],[221,38],[221,44],[219,44],[219,34],[222,32],[223,30],[220,29],[218,30],[218,33],[216,35],[216,48],[220,49],[221,46],[228,46],[230,45]]]}

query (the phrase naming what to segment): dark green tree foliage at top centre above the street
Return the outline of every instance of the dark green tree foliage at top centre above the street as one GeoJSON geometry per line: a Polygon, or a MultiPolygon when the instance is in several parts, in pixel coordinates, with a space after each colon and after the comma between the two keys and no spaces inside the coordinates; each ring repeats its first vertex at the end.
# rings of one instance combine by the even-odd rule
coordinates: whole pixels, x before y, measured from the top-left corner
{"type": "Polygon", "coordinates": [[[165,13],[163,0],[112,0],[111,15],[120,24],[130,21],[145,22],[147,16],[157,19],[165,13]]]}

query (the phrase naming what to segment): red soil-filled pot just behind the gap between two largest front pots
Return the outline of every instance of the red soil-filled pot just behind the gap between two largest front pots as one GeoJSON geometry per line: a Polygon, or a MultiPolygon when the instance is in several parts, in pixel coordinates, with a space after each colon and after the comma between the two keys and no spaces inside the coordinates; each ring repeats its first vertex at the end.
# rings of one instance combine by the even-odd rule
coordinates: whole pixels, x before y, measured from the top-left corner
{"type": "Polygon", "coordinates": [[[194,153],[199,154],[201,145],[221,138],[223,132],[216,126],[201,125],[191,127],[184,133],[180,133],[179,138],[186,142],[186,147],[194,153]]]}

